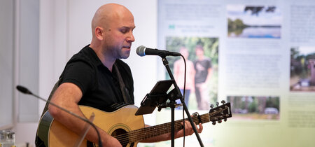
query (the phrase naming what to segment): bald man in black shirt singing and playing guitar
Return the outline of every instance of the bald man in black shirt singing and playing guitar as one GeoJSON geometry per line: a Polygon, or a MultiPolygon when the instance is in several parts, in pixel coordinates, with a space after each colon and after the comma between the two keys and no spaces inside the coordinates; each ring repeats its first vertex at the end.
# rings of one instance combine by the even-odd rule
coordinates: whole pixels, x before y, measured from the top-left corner
{"type": "MultiPolygon", "coordinates": [[[[91,106],[102,111],[112,109],[113,104],[134,104],[134,87],[130,67],[120,59],[130,55],[134,42],[134,16],[125,6],[109,3],[101,6],[92,19],[92,41],[67,62],[59,78],[51,102],[83,116],[79,105],[91,106]],[[118,71],[125,83],[125,97],[120,89],[118,71]]],[[[83,132],[85,123],[69,113],[49,106],[55,120],[76,134],[83,132]]],[[[122,116],[123,117],[123,116],[122,116]]],[[[122,146],[111,135],[98,129],[103,146],[122,146]]],[[[200,125],[199,131],[202,131],[200,125]]],[[[186,123],[186,134],[193,134],[190,123],[186,123]]],[[[176,138],[183,137],[183,130],[176,132],[176,138]]],[[[98,144],[97,132],[90,129],[85,137],[98,144]]],[[[144,142],[165,141],[170,134],[146,139],[144,142]]]]}

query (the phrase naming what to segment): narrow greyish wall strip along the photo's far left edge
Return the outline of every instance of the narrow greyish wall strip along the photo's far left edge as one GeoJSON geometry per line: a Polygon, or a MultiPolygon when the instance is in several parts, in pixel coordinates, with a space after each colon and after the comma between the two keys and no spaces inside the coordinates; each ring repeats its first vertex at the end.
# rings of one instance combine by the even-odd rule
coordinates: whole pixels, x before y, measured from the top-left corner
{"type": "Polygon", "coordinates": [[[12,127],[13,112],[13,30],[14,6],[13,1],[0,1],[0,130],[12,127]]]}

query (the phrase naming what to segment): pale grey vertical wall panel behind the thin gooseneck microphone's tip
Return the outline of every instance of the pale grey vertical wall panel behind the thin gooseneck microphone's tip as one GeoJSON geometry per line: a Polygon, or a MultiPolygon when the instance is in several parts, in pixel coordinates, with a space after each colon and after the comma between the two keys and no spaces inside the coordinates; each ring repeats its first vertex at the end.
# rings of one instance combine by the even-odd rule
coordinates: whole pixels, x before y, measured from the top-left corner
{"type": "Polygon", "coordinates": [[[17,145],[25,142],[34,144],[36,120],[38,120],[38,100],[15,90],[15,85],[24,85],[38,94],[39,56],[39,0],[15,0],[15,114],[14,128],[17,145]],[[35,131],[34,131],[35,128],[35,131]]]}

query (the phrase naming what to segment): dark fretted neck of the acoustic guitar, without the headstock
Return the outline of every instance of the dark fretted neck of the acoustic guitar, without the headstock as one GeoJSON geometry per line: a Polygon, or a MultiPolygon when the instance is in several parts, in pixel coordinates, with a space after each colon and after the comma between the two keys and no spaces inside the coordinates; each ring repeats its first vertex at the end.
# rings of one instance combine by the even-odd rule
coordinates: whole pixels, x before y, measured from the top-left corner
{"type": "MultiPolygon", "coordinates": [[[[206,113],[201,116],[193,116],[192,119],[195,124],[208,123],[210,121],[209,113],[206,113]]],[[[188,118],[186,118],[185,120],[188,120],[188,118]]],[[[176,120],[174,122],[175,131],[179,131],[183,129],[183,125],[181,125],[181,122],[183,122],[183,120],[176,120]]],[[[171,127],[172,127],[172,123],[164,123],[161,125],[144,127],[139,130],[128,132],[127,136],[130,140],[129,142],[138,142],[138,141],[148,139],[151,137],[158,137],[161,134],[167,134],[172,131],[171,127]]],[[[118,137],[118,140],[119,140],[119,137],[118,137]]]]}

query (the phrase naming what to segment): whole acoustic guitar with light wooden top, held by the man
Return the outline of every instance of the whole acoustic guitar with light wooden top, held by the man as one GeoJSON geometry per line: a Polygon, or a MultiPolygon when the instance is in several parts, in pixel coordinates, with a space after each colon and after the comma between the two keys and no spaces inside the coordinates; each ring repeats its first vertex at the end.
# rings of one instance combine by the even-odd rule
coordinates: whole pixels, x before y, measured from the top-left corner
{"type": "MultiPolygon", "coordinates": [[[[218,105],[218,104],[217,104],[218,105]]],[[[123,106],[122,108],[113,111],[105,112],[99,109],[94,109],[90,106],[80,106],[81,111],[87,117],[94,113],[94,125],[101,128],[112,137],[120,141],[123,146],[137,146],[138,142],[150,137],[157,137],[161,134],[171,132],[171,123],[164,123],[151,127],[145,127],[143,116],[135,116],[138,108],[134,105],[123,106]]],[[[221,123],[222,120],[232,117],[230,103],[222,104],[212,108],[209,113],[199,115],[195,113],[192,118],[195,124],[216,122],[221,123]]],[[[186,119],[188,120],[188,119],[186,119]]],[[[175,131],[183,129],[181,122],[175,121],[175,131]]],[[[90,129],[93,129],[92,127],[90,129]]],[[[68,147],[73,146],[79,139],[79,136],[64,125],[55,121],[47,111],[40,120],[37,129],[38,138],[43,141],[45,146],[50,147],[68,147]]],[[[85,139],[80,147],[87,146],[85,139]]]]}

